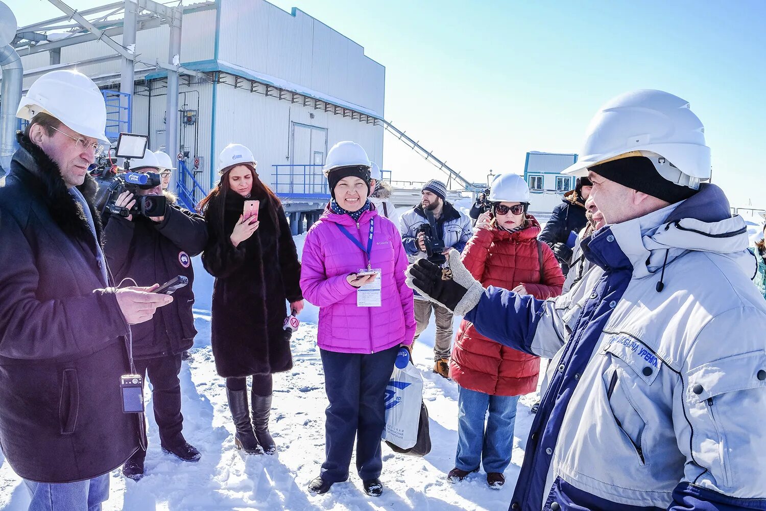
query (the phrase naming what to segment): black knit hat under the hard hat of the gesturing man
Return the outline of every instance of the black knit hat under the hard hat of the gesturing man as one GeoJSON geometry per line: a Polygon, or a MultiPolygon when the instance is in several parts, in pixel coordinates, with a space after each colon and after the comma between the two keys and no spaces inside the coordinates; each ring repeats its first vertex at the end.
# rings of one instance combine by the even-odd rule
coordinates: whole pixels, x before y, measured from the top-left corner
{"type": "Polygon", "coordinates": [[[628,156],[588,167],[602,177],[633,188],[669,204],[676,204],[697,193],[688,186],[676,185],[657,172],[652,160],[646,156],[628,156]]]}

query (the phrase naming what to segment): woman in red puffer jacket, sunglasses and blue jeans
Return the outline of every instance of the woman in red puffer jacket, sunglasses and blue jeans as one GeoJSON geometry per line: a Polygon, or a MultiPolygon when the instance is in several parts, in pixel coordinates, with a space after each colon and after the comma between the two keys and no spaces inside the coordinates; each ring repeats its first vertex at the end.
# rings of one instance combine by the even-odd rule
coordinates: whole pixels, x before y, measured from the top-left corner
{"type": "MultiPolygon", "coordinates": [[[[545,300],[561,294],[564,275],[551,249],[537,240],[540,224],[527,213],[529,186],[518,174],[497,175],[491,211],[480,215],[463,264],[483,287],[504,287],[545,300]]],[[[516,404],[537,388],[540,359],[493,342],[463,319],[450,376],[458,385],[457,454],[447,478],[457,483],[483,464],[499,489],[511,462],[516,404]]]]}

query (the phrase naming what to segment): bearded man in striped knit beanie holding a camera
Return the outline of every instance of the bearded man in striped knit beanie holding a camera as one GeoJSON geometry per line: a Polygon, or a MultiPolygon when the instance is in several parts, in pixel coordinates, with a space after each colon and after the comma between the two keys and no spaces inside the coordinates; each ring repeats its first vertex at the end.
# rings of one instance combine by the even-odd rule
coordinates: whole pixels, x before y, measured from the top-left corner
{"type": "MultiPolygon", "coordinates": [[[[437,264],[444,264],[444,255],[454,248],[463,251],[471,237],[471,222],[466,215],[447,202],[447,186],[431,179],[421,190],[421,203],[405,211],[399,219],[401,241],[411,263],[430,257],[437,264]],[[434,224],[434,228],[426,228],[434,224]],[[430,235],[427,235],[430,231],[430,235]]],[[[452,313],[444,306],[425,300],[415,293],[415,339],[426,329],[431,310],[436,319],[434,341],[434,372],[449,377],[450,345],[452,343],[452,313]]]]}

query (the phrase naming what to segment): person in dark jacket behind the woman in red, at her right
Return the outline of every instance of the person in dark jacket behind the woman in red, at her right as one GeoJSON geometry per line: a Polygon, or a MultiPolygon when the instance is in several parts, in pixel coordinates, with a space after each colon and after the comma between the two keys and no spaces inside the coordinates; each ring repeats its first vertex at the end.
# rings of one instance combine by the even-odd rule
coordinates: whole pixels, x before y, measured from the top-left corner
{"type": "Polygon", "coordinates": [[[585,201],[591,195],[591,187],[588,177],[577,178],[575,189],[566,192],[561,198],[561,204],[553,208],[551,218],[545,222],[538,238],[552,248],[565,277],[569,272],[569,261],[578,232],[585,227],[585,201]]]}

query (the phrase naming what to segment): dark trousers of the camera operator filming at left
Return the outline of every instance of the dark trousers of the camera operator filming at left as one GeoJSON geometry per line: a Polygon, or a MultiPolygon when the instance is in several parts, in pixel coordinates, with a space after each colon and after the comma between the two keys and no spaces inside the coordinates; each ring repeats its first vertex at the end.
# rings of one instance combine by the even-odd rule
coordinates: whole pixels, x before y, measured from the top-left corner
{"type": "MultiPolygon", "coordinates": [[[[153,359],[136,359],[136,372],[149,375],[152,384],[152,405],[154,420],[159,428],[159,441],[162,446],[175,447],[183,444],[181,434],[183,415],[181,414],[181,354],[165,355],[153,359]]],[[[146,425],[145,425],[146,427],[146,425]]],[[[146,450],[139,449],[133,458],[143,459],[146,450]]]]}

